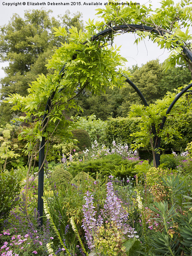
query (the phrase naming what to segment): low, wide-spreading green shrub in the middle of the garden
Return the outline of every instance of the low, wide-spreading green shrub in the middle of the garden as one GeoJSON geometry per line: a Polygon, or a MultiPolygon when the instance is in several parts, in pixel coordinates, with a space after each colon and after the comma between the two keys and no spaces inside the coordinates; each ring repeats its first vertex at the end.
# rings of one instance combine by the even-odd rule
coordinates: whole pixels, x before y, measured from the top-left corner
{"type": "MultiPolygon", "coordinates": [[[[100,159],[89,160],[86,163],[71,163],[68,171],[73,175],[77,175],[79,172],[89,172],[96,176],[96,173],[99,172],[104,177],[105,175],[110,175],[114,169],[117,169],[117,166],[125,166],[125,169],[129,171],[126,172],[127,175],[131,175],[134,165],[138,163],[138,160],[124,160],[121,156],[117,154],[106,155],[100,159]],[[131,166],[131,168],[130,168],[131,166]]],[[[126,175],[125,175],[126,176],[126,175]]]]}

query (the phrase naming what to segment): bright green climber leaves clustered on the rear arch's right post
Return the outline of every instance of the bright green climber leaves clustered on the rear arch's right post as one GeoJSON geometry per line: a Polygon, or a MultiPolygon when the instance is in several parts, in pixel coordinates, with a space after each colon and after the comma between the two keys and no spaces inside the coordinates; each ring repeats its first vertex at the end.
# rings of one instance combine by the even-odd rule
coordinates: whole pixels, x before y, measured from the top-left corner
{"type": "Polygon", "coordinates": [[[175,137],[182,139],[177,127],[165,126],[161,128],[163,116],[177,119],[181,113],[189,113],[191,111],[191,99],[181,97],[173,106],[171,112],[166,114],[167,109],[177,96],[176,93],[167,93],[162,100],[157,100],[155,104],[149,106],[133,105],[129,116],[140,116],[139,131],[131,134],[135,138],[134,148],[143,148],[150,145],[151,150],[155,149],[154,138],[162,137],[164,145],[173,143],[175,137]],[[155,128],[155,129],[154,129],[155,128]],[[150,143],[150,144],[149,144],[150,143]]]}

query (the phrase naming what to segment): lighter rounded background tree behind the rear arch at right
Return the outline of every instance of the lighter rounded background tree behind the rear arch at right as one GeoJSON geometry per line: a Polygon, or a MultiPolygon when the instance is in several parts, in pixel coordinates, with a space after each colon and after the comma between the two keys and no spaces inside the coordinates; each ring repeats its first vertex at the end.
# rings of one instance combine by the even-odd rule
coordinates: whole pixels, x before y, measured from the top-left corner
{"type": "MultiPolygon", "coordinates": [[[[148,104],[162,99],[168,91],[174,92],[174,89],[181,85],[189,84],[191,80],[191,73],[183,61],[166,73],[163,72],[163,65],[158,60],[148,61],[142,67],[132,67],[132,70],[131,81],[143,93],[148,104]]],[[[140,97],[129,84],[119,90],[119,93],[122,97],[122,105],[117,110],[119,116],[127,116],[131,105],[142,104],[140,97]]]]}

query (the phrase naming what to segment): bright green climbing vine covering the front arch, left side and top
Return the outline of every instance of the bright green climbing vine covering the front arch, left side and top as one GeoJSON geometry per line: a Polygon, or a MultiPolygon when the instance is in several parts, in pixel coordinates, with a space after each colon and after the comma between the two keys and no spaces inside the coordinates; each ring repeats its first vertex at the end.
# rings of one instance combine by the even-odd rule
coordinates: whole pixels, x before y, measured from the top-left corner
{"type": "MultiPolygon", "coordinates": [[[[134,32],[137,35],[135,40],[137,44],[148,37],[161,48],[169,49],[169,58],[164,63],[165,70],[175,66],[180,58],[184,58],[189,64],[189,69],[192,70],[191,61],[188,60],[185,51],[183,52],[184,48],[191,47],[190,0],[181,0],[175,6],[172,0],[163,0],[161,7],[156,10],[152,10],[151,5],[149,7],[117,6],[108,2],[105,9],[98,9],[98,15],[102,20],[89,20],[85,32],[81,30],[78,32],[75,27],[72,27],[68,33],[65,28],[54,28],[55,36],[67,37],[68,41],[62,43],[48,60],[47,68],[50,69],[50,74],[41,75],[33,81],[27,96],[12,94],[6,99],[6,102],[13,105],[13,111],[19,110],[25,113],[15,120],[27,123],[26,128],[23,128],[19,134],[20,140],[26,140],[25,151],[29,154],[27,187],[40,150],[39,141],[41,142],[45,137],[45,156],[47,156],[52,136],[56,131],[59,133],[62,130],[66,141],[70,140],[73,123],[66,118],[66,114],[71,108],[82,110],[81,106],[76,104],[75,97],[85,87],[94,94],[105,92],[106,87],[122,86],[125,80],[122,76],[125,73],[122,71],[122,65],[126,60],[119,55],[119,49],[111,46],[114,36],[118,33],[134,32]],[[130,24],[150,26],[150,29],[145,31],[143,27],[138,30],[130,24]],[[106,29],[111,29],[111,33],[93,36],[106,29]],[[48,108],[47,101],[49,101],[48,108]],[[44,115],[46,119],[42,123],[44,115]]],[[[27,191],[28,189],[26,193],[27,191]]]]}

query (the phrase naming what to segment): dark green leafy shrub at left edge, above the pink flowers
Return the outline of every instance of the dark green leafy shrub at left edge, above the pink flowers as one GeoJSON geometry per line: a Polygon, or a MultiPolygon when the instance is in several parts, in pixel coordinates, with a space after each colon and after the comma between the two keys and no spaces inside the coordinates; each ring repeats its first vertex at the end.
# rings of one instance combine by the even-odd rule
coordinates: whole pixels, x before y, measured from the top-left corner
{"type": "Polygon", "coordinates": [[[19,203],[20,182],[14,172],[0,173],[0,223],[7,218],[10,210],[19,203]]]}

